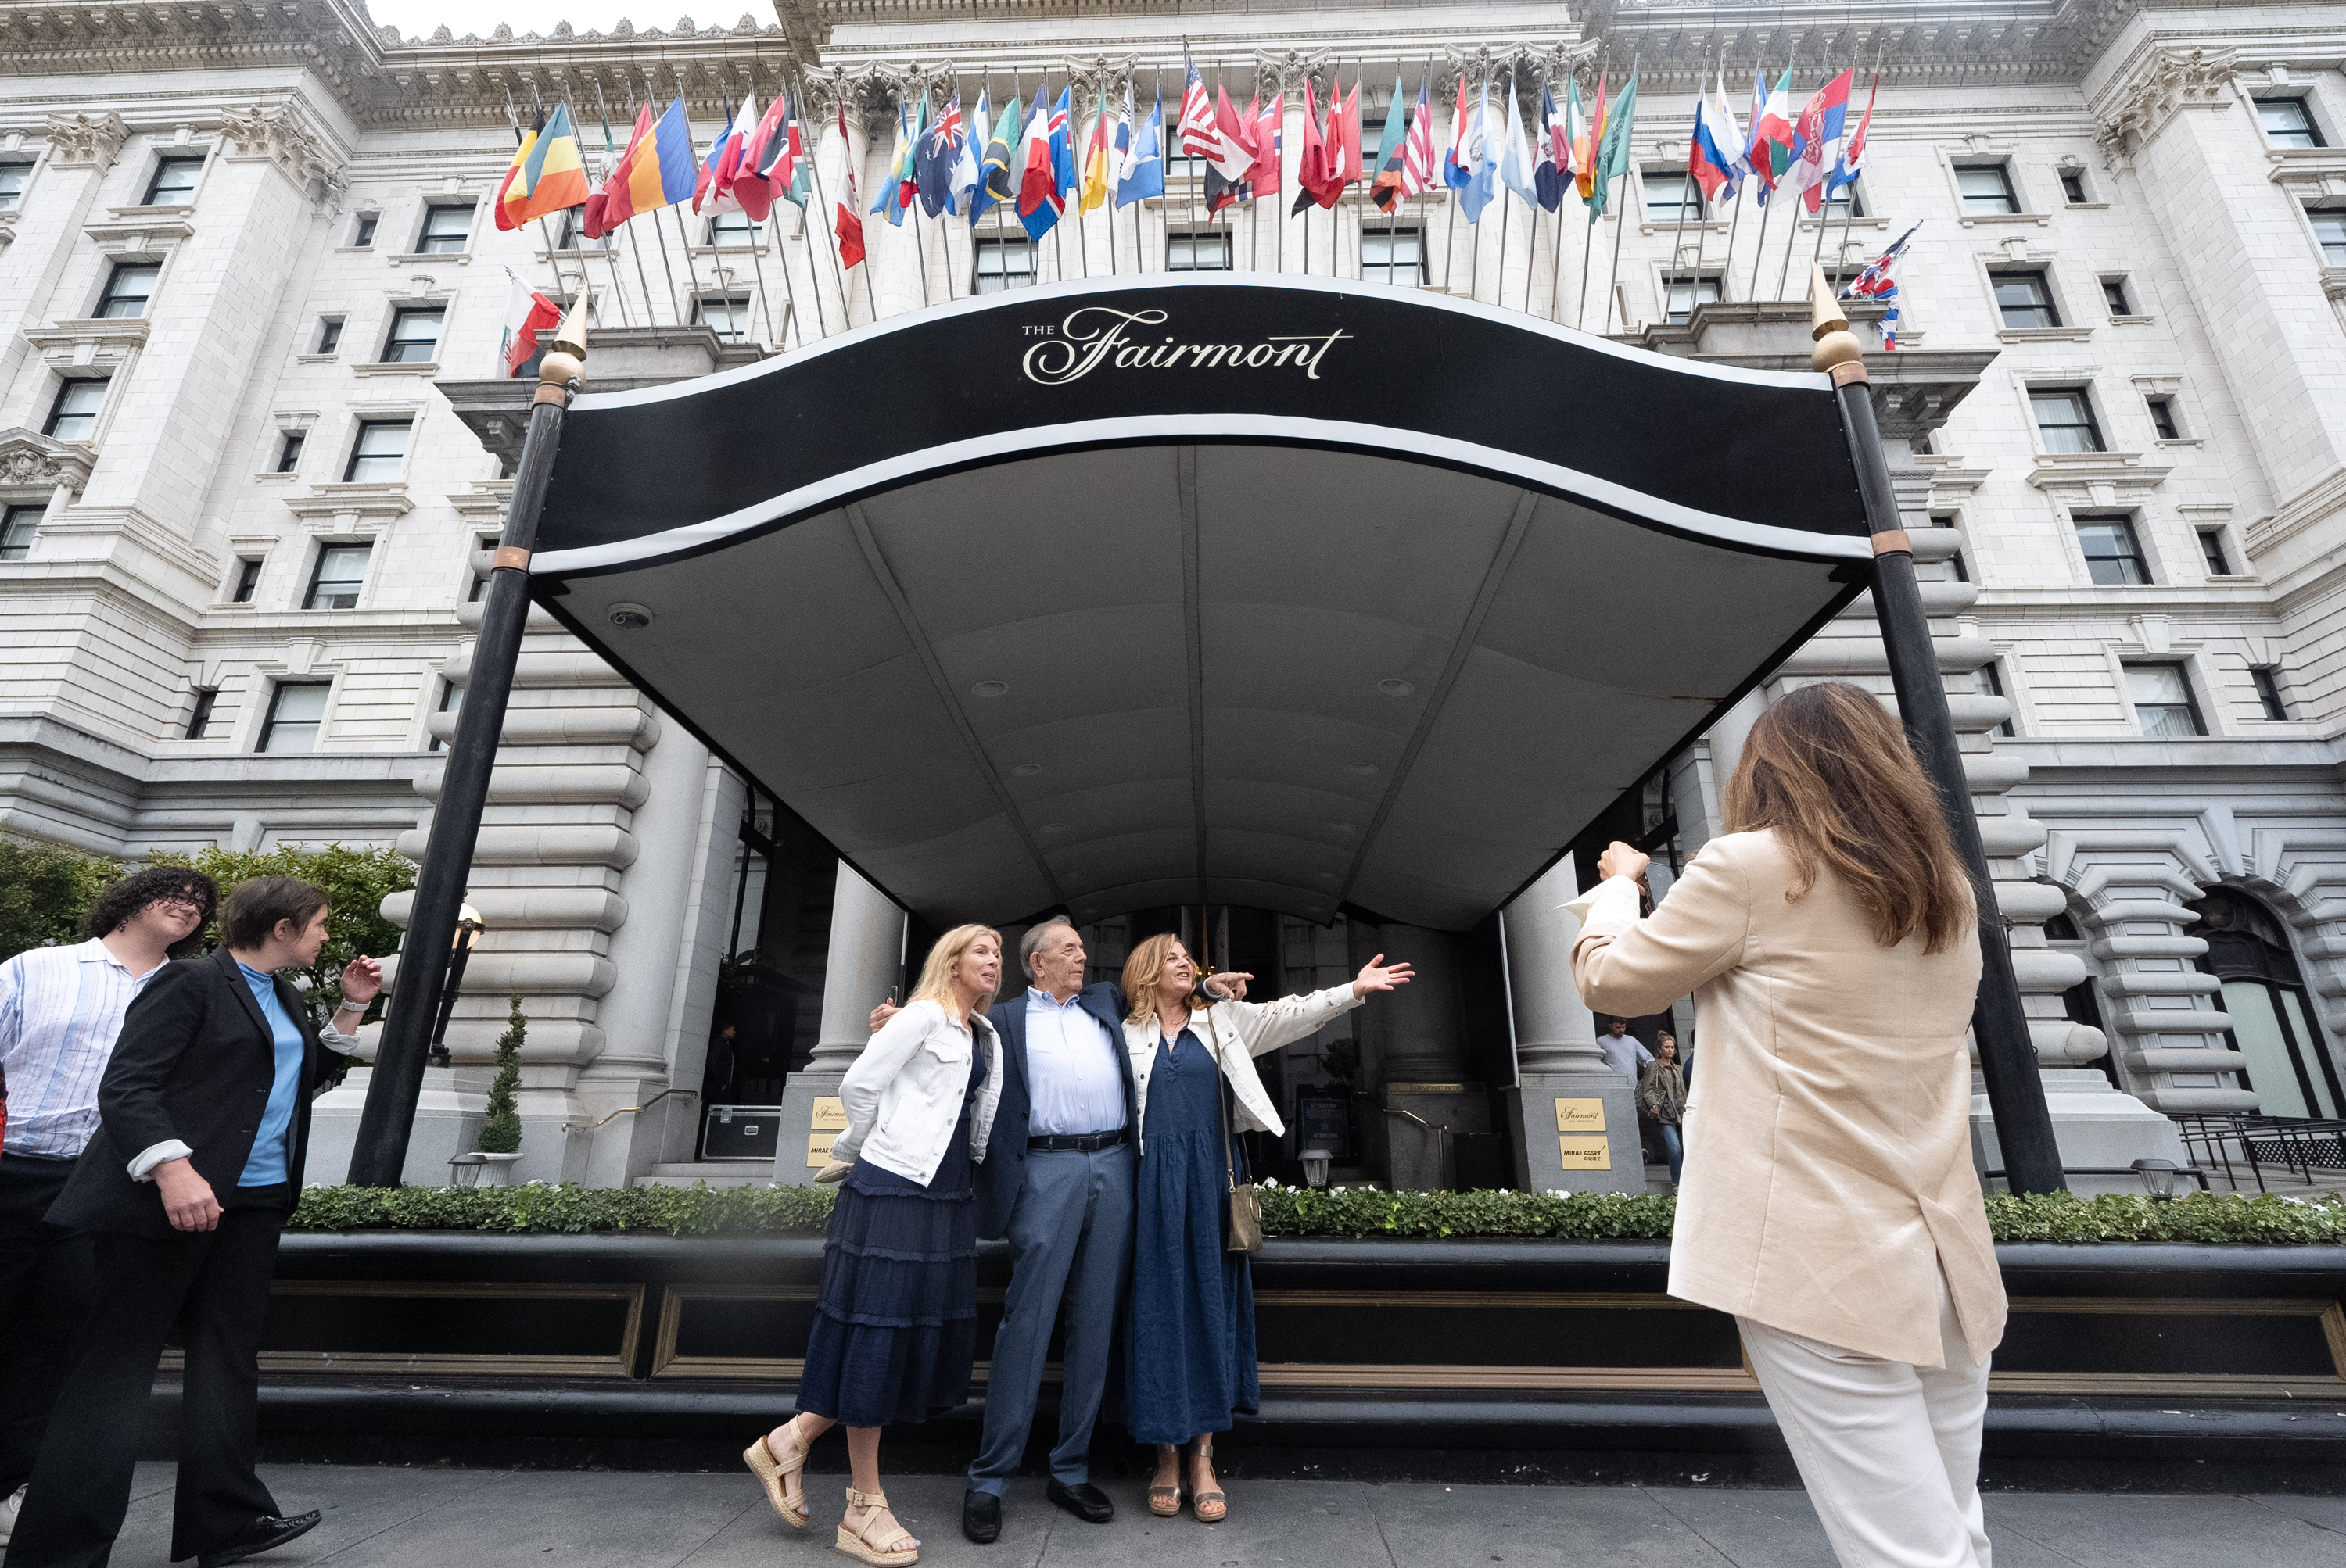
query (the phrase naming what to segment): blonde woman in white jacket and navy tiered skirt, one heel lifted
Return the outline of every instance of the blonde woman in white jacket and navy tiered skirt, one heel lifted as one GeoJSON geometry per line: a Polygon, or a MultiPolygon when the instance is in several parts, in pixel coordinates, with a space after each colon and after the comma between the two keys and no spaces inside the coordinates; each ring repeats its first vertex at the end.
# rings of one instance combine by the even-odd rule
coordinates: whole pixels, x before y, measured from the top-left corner
{"type": "Polygon", "coordinates": [[[969,1399],[978,1355],[978,1200],[1002,1099],[1002,1045],[985,1010],[1002,987],[1002,933],[955,926],[913,998],[840,1080],[847,1132],[819,1179],[840,1179],[823,1238],[823,1284],[798,1380],[798,1416],[741,1460],[774,1512],[807,1528],[807,1448],[847,1427],[847,1519],[838,1549],[880,1568],[920,1561],[880,1491],[880,1427],[969,1399]]]}

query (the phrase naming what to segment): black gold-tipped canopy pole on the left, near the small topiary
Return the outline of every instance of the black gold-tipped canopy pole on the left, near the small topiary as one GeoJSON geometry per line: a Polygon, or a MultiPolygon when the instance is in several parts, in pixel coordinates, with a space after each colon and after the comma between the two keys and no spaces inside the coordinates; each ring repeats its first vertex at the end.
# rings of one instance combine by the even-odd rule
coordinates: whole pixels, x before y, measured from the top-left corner
{"type": "Polygon", "coordinates": [[[544,511],[554,455],[563,443],[563,415],[586,377],[584,359],[586,286],[579,284],[570,316],[554,335],[554,347],[537,363],[537,396],[530,401],[530,429],[521,441],[521,462],[514,466],[514,499],[504,509],[504,534],[497,539],[495,565],[488,574],[481,635],[472,645],[472,677],[465,684],[465,705],[457,708],[455,738],[448,743],[439,809],[432,813],[432,837],[415,879],[415,907],[408,914],[406,938],[399,942],[399,975],[375,1050],[375,1073],[366,1085],[366,1109],[359,1111],[359,1134],[350,1153],[352,1186],[399,1186],[399,1174],[408,1163],[415,1097],[422,1092],[425,1057],[432,1048],[432,1020],[448,975],[455,923],[465,907],[472,851],[481,837],[488,776],[497,766],[497,738],[504,731],[504,705],[514,694],[521,633],[530,621],[530,551],[537,544],[537,513],[544,511]]]}

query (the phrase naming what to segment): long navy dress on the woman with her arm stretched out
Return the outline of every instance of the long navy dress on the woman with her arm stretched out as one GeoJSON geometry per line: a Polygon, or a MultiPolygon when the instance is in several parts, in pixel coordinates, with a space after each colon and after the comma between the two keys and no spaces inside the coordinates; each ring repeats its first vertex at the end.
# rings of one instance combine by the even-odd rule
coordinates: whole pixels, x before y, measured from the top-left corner
{"type": "MultiPolygon", "coordinates": [[[[1234,1045],[1243,1050],[1243,1045],[1234,1045]]],[[[1232,1139],[1222,1160],[1222,1073],[1189,1029],[1157,1038],[1133,1186],[1133,1320],[1124,1336],[1126,1427],[1143,1444],[1227,1432],[1262,1409],[1255,1371],[1255,1277],[1225,1252],[1232,1139]]]]}

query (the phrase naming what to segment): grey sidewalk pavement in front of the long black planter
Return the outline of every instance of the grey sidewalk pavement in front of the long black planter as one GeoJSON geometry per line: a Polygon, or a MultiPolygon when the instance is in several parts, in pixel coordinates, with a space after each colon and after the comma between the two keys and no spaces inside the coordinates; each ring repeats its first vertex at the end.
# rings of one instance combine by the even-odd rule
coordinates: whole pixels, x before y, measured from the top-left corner
{"type": "MultiPolygon", "coordinates": [[[[265,1465],[289,1514],[326,1521],[263,1568],[786,1568],[830,1549],[845,1477],[807,1477],[798,1533],[746,1472],[265,1465]]],[[[1140,1481],[1084,1523],[1016,1481],[1002,1540],[962,1540],[960,1477],[889,1481],[922,1563],[988,1568],[1832,1568],[1797,1491],[1227,1481],[1229,1519],[1154,1519],[1140,1481]]],[[[2346,1498],[1994,1493],[1996,1568],[2346,1568],[2346,1498]]],[[[164,1568],[171,1465],[138,1465],[113,1568],[164,1568]]]]}

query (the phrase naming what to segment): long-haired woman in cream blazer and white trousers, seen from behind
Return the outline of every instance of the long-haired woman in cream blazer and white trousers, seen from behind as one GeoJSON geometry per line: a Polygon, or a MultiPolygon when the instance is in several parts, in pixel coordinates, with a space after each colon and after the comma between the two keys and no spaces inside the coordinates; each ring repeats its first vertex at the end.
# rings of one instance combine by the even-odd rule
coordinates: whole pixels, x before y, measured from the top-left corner
{"type": "Polygon", "coordinates": [[[1628,844],[1574,905],[1591,1008],[1696,1001],[1670,1294],[1736,1315],[1846,1568],[1985,1568],[2006,1303],[1971,1163],[1975,895],[1905,734],[1851,684],[1760,717],[1724,816],[1652,916],[1628,844]]]}

